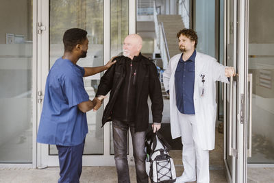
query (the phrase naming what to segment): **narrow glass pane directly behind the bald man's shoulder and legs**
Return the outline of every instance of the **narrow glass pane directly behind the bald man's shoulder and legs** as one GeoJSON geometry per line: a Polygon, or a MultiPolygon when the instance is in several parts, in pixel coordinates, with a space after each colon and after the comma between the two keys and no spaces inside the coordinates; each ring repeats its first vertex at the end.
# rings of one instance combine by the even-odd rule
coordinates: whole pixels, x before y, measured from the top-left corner
{"type": "MultiPolygon", "coordinates": [[[[123,55],[123,41],[129,34],[129,3],[127,0],[110,1],[110,56],[123,55]]],[[[127,134],[128,135],[128,134],[127,134]]],[[[127,138],[128,139],[128,138],[127,138]]],[[[128,145],[127,145],[128,151],[128,145]]],[[[114,154],[112,122],[110,124],[110,154],[114,154]]]]}

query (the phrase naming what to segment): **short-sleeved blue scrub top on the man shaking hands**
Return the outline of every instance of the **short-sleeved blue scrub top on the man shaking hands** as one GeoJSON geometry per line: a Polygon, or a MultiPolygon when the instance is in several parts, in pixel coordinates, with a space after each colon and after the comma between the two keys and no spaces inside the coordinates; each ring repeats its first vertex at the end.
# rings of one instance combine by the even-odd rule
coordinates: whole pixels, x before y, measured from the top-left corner
{"type": "Polygon", "coordinates": [[[84,68],[70,60],[55,61],[45,88],[37,142],[73,146],[83,143],[88,133],[86,113],[77,104],[88,101],[84,88],[84,68]]]}

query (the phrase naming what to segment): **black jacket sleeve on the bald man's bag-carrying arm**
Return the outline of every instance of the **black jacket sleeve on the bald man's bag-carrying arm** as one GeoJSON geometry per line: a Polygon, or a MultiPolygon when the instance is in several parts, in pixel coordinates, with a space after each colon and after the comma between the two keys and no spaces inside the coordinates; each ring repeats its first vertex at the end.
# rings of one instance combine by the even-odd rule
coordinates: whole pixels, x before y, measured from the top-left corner
{"type": "Polygon", "coordinates": [[[164,104],[160,80],[156,66],[153,63],[149,65],[149,97],[151,99],[153,123],[161,123],[164,104]]]}

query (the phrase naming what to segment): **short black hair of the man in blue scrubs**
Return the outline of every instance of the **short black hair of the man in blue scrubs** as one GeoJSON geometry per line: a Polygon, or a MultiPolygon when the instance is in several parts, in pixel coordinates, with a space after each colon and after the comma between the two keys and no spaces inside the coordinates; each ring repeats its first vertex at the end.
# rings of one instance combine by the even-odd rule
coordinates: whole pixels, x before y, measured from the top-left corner
{"type": "Polygon", "coordinates": [[[77,44],[81,44],[86,40],[86,35],[88,32],[86,32],[84,29],[79,28],[72,28],[67,29],[66,32],[64,32],[63,36],[63,42],[64,42],[64,51],[73,51],[73,48],[77,44]]]}

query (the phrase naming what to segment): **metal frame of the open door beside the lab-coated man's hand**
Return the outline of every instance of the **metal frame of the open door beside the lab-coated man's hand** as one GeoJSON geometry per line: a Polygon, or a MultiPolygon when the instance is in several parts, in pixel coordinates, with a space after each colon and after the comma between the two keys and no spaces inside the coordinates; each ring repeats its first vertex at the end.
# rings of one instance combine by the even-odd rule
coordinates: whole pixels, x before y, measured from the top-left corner
{"type": "MultiPolygon", "coordinates": [[[[234,114],[234,125],[236,126],[232,130],[232,136],[230,136],[230,141],[232,141],[232,174],[229,172],[227,164],[227,131],[226,124],[229,123],[226,120],[226,112],[224,112],[224,162],[226,168],[226,175],[228,182],[247,182],[247,23],[248,23],[248,13],[247,13],[247,0],[234,1],[234,68],[236,73],[238,73],[237,82],[232,82],[233,86],[236,86],[236,91],[232,90],[234,95],[236,95],[236,114],[234,114]]],[[[229,5],[229,0],[225,0],[225,14],[224,14],[224,26],[225,26],[225,40],[224,40],[224,60],[225,64],[227,62],[227,32],[229,32],[229,12],[227,11],[227,6],[229,5]]],[[[225,86],[225,88],[231,86],[225,86]]],[[[226,90],[224,99],[224,109],[226,109],[226,90]]]]}

